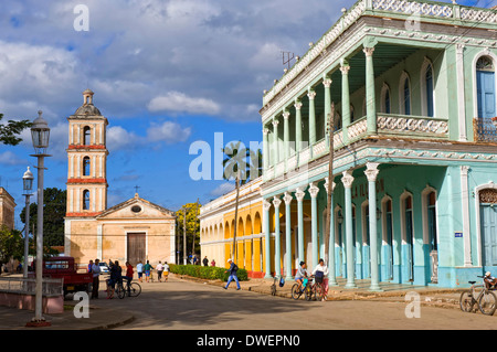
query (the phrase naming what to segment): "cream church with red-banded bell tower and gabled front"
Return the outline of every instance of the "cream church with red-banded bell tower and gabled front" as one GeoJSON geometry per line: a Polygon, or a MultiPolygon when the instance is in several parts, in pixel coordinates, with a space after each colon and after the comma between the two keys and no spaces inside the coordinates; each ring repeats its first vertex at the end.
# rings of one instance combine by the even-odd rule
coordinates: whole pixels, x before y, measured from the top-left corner
{"type": "Polygon", "coordinates": [[[175,214],[138,194],[107,209],[107,118],[93,104],[94,93],[83,92],[83,105],[67,118],[66,255],[81,265],[107,262],[175,262],[175,214]]]}

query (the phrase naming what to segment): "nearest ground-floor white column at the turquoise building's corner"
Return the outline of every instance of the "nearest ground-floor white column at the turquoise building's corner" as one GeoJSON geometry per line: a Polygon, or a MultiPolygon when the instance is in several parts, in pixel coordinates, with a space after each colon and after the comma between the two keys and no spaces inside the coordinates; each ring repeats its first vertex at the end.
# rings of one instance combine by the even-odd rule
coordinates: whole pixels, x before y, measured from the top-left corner
{"type": "Polygon", "coordinates": [[[381,291],[380,274],[378,263],[378,234],[377,234],[377,178],[378,162],[368,162],[364,171],[368,178],[368,203],[369,203],[369,242],[370,242],[370,260],[371,260],[371,291],[381,291]]]}

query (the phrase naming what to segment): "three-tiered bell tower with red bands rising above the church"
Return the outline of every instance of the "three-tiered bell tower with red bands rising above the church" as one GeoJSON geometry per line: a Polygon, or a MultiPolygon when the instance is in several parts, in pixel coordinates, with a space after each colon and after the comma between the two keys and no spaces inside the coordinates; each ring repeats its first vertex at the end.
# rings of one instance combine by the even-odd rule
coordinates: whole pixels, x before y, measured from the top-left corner
{"type": "Polygon", "coordinates": [[[83,92],[83,105],[67,118],[67,217],[87,217],[107,209],[107,118],[83,92]]]}

